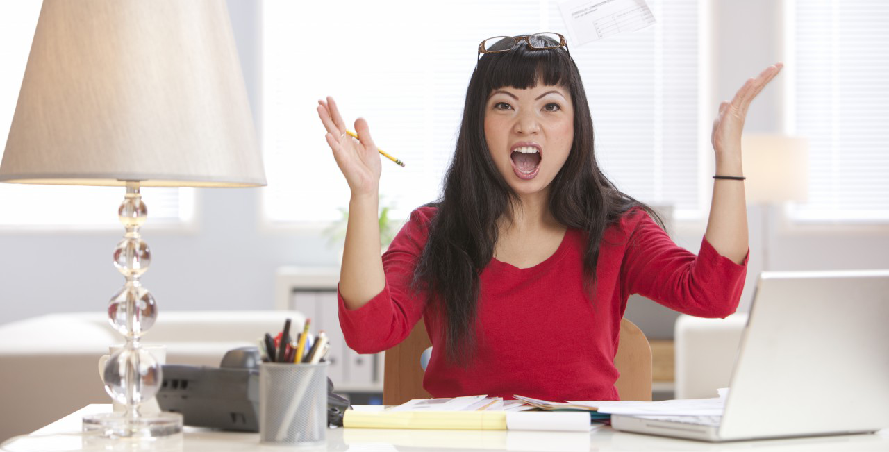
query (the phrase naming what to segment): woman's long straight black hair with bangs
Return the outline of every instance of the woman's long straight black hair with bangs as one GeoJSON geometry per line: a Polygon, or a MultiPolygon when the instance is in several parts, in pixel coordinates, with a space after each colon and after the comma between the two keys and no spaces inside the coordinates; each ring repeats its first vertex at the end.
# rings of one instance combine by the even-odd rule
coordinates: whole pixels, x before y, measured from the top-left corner
{"type": "MultiPolygon", "coordinates": [[[[529,36],[529,39],[541,39],[529,36]]],[[[506,44],[511,45],[509,38],[506,44]]],[[[554,45],[540,41],[535,46],[554,45]]],[[[498,220],[520,208],[517,194],[494,166],[485,141],[485,104],[494,90],[533,88],[538,83],[564,87],[574,106],[574,139],[562,169],[552,180],[549,210],[565,227],[583,231],[585,288],[595,290],[599,245],[605,228],[630,208],[649,207],[621,193],[599,170],[593,121],[581,75],[565,48],[535,50],[523,41],[509,52],[485,53],[469,80],[457,147],[445,175],[428,241],[413,274],[415,290],[445,316],[449,361],[469,364],[475,346],[479,274],[493,258],[498,220]]]]}

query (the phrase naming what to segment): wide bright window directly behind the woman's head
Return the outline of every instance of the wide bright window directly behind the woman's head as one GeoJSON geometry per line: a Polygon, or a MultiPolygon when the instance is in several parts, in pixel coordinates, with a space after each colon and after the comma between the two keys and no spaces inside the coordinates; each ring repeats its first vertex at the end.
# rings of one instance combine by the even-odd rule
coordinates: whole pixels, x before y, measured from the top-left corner
{"type": "MultiPolygon", "coordinates": [[[[653,28],[569,48],[606,174],[641,201],[700,214],[698,5],[649,3],[659,20],[653,28]]],[[[337,99],[350,128],[363,115],[376,144],[404,161],[383,160],[380,194],[406,218],[439,195],[478,43],[538,31],[567,36],[547,0],[269,0],[262,16],[264,209],[277,222],[326,223],[348,206],[317,99],[337,99]]]]}

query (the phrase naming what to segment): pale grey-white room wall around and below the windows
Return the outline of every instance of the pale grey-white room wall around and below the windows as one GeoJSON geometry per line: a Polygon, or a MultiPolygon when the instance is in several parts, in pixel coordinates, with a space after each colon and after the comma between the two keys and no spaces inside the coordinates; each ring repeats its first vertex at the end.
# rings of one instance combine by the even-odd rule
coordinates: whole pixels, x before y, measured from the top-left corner
{"type": "MultiPolygon", "coordinates": [[[[731,99],[746,78],[781,60],[781,2],[708,1],[715,19],[709,31],[714,62],[709,105],[715,115],[719,101],[731,99]]],[[[253,111],[258,112],[260,2],[228,0],[228,6],[253,111]]],[[[781,131],[783,82],[781,77],[775,82],[750,108],[747,131],[781,131]]],[[[271,309],[277,266],[336,265],[338,253],[318,234],[264,230],[260,190],[199,190],[193,230],[153,231],[149,219],[142,232],[154,258],[142,281],[157,298],[162,317],[165,310],[271,309]]],[[[889,268],[889,226],[802,228],[782,225],[777,215],[771,218],[770,269],[889,268]]],[[[752,254],[743,308],[762,268],[760,210],[751,208],[749,220],[752,254]]],[[[702,234],[702,224],[677,225],[675,236],[697,250],[702,234]]],[[[111,265],[121,235],[0,231],[0,323],[104,309],[124,282],[111,265]]]]}

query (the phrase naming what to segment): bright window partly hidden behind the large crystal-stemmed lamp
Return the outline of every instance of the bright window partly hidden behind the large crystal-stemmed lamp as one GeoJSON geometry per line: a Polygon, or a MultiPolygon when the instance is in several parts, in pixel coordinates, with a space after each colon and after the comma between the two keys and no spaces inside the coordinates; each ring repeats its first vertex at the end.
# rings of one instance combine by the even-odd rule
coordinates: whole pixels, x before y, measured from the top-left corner
{"type": "MultiPolygon", "coordinates": [[[[41,2],[0,2],[0,155],[19,99],[31,40],[41,2]]],[[[187,221],[193,212],[190,188],[144,188],[152,224],[187,221]]],[[[0,227],[120,226],[117,206],[124,200],[123,187],[32,186],[0,183],[0,227]]]]}

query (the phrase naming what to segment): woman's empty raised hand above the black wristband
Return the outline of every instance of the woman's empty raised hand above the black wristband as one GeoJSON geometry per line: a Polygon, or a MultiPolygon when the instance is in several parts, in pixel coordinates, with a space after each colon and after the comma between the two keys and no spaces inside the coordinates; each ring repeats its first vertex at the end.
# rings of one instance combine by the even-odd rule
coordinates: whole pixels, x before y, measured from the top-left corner
{"type": "Polygon", "coordinates": [[[759,91],[763,91],[765,85],[771,82],[775,75],[781,72],[781,67],[784,67],[781,63],[766,67],[762,73],[748,79],[747,83],[735,93],[731,102],[725,100],[719,104],[719,113],[713,121],[713,133],[710,135],[717,157],[741,157],[741,131],[744,129],[744,119],[747,117],[750,102],[757,97],[759,91]]]}

